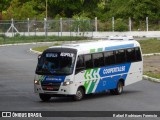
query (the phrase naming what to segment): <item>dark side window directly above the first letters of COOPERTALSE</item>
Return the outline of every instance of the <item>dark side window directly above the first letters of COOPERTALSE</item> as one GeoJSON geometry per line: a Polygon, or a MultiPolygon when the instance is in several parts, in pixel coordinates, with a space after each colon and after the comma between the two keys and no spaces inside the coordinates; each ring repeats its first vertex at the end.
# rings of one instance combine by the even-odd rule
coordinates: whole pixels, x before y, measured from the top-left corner
{"type": "Polygon", "coordinates": [[[105,52],[104,53],[104,60],[105,60],[105,65],[115,64],[114,52],[113,51],[105,52]]]}

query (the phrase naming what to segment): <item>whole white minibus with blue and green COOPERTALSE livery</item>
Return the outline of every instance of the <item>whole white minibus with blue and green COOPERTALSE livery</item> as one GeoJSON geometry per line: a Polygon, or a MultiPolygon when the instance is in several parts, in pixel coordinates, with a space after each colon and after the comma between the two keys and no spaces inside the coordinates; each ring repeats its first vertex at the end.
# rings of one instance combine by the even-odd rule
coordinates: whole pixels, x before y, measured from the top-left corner
{"type": "Polygon", "coordinates": [[[34,90],[43,101],[55,95],[84,94],[110,90],[121,94],[123,86],[142,80],[143,60],[137,41],[103,40],[51,47],[39,57],[34,90]],[[43,70],[44,61],[53,67],[43,70]],[[68,67],[68,71],[62,70],[68,67]]]}

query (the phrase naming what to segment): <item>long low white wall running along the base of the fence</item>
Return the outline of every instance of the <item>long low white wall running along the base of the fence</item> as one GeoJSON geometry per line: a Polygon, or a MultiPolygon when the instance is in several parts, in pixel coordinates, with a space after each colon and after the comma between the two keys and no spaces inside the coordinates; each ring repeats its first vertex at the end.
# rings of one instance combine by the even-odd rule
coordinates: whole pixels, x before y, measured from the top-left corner
{"type": "MultiPolygon", "coordinates": [[[[8,37],[17,35],[17,33],[4,33],[8,37]]],[[[46,36],[45,32],[19,32],[21,36],[46,36]]],[[[108,36],[133,36],[143,38],[159,38],[160,31],[132,31],[132,32],[47,32],[47,36],[86,36],[93,38],[106,38],[108,36]]]]}

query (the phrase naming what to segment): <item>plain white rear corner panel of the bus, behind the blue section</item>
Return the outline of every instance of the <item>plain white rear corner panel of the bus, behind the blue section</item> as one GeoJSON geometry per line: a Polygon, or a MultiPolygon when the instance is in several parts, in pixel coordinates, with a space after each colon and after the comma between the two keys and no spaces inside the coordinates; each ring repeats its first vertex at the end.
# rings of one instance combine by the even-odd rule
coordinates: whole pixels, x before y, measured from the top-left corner
{"type": "Polygon", "coordinates": [[[142,80],[143,74],[143,62],[134,62],[131,64],[129,69],[125,85],[130,85],[132,83],[142,80]]]}

